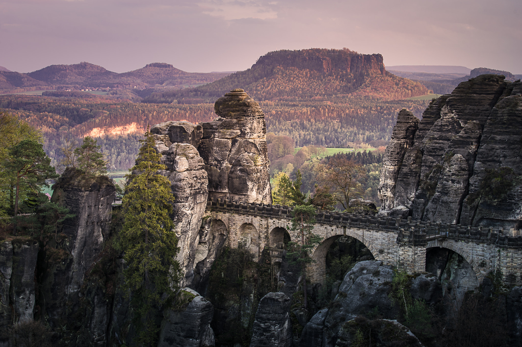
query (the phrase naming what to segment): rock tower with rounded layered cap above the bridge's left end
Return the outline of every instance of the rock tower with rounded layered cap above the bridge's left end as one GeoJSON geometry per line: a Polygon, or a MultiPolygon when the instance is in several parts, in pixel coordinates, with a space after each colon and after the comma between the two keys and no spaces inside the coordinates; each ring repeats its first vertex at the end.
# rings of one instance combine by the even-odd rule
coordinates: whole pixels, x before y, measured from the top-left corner
{"type": "Polygon", "coordinates": [[[201,123],[198,147],[211,198],[271,203],[266,123],[259,104],[233,89],[214,106],[218,118],[201,123]]]}

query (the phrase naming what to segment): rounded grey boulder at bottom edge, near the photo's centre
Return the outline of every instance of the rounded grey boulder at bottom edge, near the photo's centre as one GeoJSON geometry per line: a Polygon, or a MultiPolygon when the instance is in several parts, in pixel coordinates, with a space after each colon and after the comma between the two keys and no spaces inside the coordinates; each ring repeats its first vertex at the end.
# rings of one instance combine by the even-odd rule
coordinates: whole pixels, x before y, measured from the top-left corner
{"type": "Polygon", "coordinates": [[[281,292],[266,294],[257,307],[250,347],[292,345],[290,298],[281,292]]]}

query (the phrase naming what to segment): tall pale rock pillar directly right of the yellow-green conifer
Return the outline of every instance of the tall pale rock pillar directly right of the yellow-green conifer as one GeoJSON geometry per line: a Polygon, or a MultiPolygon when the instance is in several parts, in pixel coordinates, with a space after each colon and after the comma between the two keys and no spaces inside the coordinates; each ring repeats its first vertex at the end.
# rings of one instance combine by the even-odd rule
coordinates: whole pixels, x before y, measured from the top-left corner
{"type": "Polygon", "coordinates": [[[162,133],[155,135],[155,148],[162,154],[161,163],[167,166],[167,170],[161,170],[160,173],[171,182],[175,198],[173,221],[178,238],[177,247],[180,248],[177,261],[184,273],[182,286],[191,286],[194,278],[199,228],[207,205],[208,176],[196,147],[190,143],[171,143],[171,140],[194,142],[193,137],[197,139],[197,129],[197,126],[188,122],[160,123],[150,129],[151,133],[162,133]],[[187,128],[191,130],[191,126],[192,132],[185,131],[187,128]],[[168,131],[164,131],[165,128],[168,131]],[[180,133],[183,136],[179,136],[180,133]],[[166,138],[167,134],[169,139],[166,138]]]}

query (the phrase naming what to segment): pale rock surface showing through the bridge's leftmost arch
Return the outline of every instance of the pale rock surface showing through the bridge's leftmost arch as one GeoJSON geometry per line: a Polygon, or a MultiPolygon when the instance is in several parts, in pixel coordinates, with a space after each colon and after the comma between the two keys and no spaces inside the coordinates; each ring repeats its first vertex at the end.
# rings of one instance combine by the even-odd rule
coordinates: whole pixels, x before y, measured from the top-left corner
{"type": "Polygon", "coordinates": [[[199,229],[199,241],[194,255],[193,288],[205,295],[213,262],[227,242],[228,229],[221,220],[204,220],[199,229]]]}

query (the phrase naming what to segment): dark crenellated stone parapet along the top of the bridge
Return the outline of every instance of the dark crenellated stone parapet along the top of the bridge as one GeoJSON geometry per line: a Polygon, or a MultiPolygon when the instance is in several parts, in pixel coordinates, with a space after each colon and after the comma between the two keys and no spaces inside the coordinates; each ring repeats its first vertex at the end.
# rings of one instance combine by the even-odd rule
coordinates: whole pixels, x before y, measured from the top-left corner
{"type": "MultiPolygon", "coordinates": [[[[207,210],[217,210],[231,213],[245,213],[257,216],[276,217],[290,220],[293,208],[278,204],[246,203],[240,200],[210,199],[207,210]]],[[[472,227],[460,224],[442,224],[440,222],[414,221],[392,217],[377,217],[374,215],[359,215],[354,213],[324,211],[318,209],[315,220],[319,224],[342,225],[354,228],[395,230],[404,233],[404,240],[433,240],[449,238],[482,243],[494,243],[499,247],[522,248],[522,236],[519,230],[472,227]],[[414,236],[419,235],[419,236],[414,236]],[[425,236],[422,236],[425,235],[425,236]]],[[[399,239],[402,239],[398,237],[399,239]]],[[[412,241],[413,242],[413,241],[412,241]]]]}

